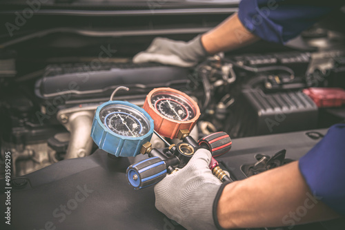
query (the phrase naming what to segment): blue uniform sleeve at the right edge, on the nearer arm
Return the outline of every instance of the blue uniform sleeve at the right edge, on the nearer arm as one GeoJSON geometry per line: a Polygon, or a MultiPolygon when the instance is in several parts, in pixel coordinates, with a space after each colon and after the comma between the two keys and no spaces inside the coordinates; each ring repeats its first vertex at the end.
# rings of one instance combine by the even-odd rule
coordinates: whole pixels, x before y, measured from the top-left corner
{"type": "Polygon", "coordinates": [[[299,159],[299,170],[313,195],[345,216],[345,124],[333,125],[299,159]]]}

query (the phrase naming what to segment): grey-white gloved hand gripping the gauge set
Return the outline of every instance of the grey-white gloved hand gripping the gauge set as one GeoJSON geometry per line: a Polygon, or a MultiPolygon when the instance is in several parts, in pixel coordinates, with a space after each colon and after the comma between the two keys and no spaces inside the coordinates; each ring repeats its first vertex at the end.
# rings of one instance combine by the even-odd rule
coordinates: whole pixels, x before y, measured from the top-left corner
{"type": "Polygon", "coordinates": [[[157,209],[186,229],[217,229],[213,202],[221,182],[208,168],[211,157],[197,150],[188,165],[155,186],[157,209]]]}

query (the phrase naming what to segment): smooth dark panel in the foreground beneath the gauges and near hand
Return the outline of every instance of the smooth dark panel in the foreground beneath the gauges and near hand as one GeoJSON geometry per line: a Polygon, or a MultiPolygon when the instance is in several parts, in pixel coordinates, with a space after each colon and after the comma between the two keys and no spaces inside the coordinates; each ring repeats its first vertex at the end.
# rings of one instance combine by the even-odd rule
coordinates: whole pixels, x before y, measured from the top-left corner
{"type": "MultiPolygon", "coordinates": [[[[326,129],[316,130],[309,136],[306,132],[294,132],[234,139],[230,154],[217,159],[235,180],[242,180],[246,178],[242,165],[255,163],[258,154],[273,156],[286,149],[286,158],[297,160],[324,134],[326,129]]],[[[54,226],[56,229],[92,230],[184,229],[157,211],[153,187],[137,191],[128,185],[126,168],[130,160],[132,158],[108,158],[106,152],[97,150],[91,156],[62,160],[23,176],[22,180],[12,180],[10,227],[37,230],[54,229],[54,226]]],[[[1,189],[5,187],[4,182],[1,180],[1,189]]],[[[1,204],[5,198],[1,191],[1,204]]],[[[4,226],[4,221],[0,225],[4,226]]],[[[293,229],[345,229],[345,222],[338,219],[293,229]]]]}

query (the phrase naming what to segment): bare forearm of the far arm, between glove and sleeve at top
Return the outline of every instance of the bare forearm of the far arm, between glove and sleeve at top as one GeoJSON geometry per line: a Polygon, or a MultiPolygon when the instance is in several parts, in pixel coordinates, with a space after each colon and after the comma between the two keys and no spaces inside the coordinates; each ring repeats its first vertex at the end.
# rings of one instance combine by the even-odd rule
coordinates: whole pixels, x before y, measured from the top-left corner
{"type": "Polygon", "coordinates": [[[228,17],[216,28],[201,37],[204,48],[209,54],[235,50],[257,40],[259,40],[259,37],[250,33],[242,25],[237,13],[228,17]]]}

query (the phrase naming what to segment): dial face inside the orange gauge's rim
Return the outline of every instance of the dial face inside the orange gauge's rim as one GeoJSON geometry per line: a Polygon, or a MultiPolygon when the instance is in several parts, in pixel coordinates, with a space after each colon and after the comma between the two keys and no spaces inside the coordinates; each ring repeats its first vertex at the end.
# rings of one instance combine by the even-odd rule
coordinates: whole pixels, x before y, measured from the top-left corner
{"type": "Polygon", "coordinates": [[[195,117],[193,104],[174,92],[157,92],[152,95],[151,103],[159,114],[175,121],[189,121],[195,117]]]}

